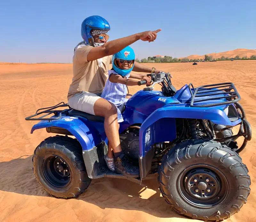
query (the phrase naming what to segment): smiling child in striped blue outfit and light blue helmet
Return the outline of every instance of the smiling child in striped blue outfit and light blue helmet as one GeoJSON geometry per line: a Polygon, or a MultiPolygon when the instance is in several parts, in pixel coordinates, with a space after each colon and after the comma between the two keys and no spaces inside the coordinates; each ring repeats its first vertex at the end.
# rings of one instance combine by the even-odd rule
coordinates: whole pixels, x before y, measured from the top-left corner
{"type": "MultiPolygon", "coordinates": [[[[134,51],[129,46],[113,55],[113,68],[108,70],[109,77],[101,94],[102,98],[116,105],[118,123],[124,121],[122,111],[124,110],[124,103],[127,101],[127,99],[125,99],[127,94],[127,86],[136,86],[138,84],[138,80],[129,79],[130,73],[134,66],[134,59],[134,51]]],[[[145,76],[145,74],[132,74],[131,77],[146,80],[147,83],[145,84],[150,84],[151,82],[151,78],[145,76]]],[[[111,171],[115,171],[115,161],[110,144],[108,146],[108,154],[104,156],[104,159],[108,165],[108,168],[111,171]]]]}

